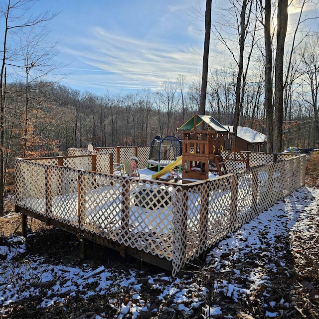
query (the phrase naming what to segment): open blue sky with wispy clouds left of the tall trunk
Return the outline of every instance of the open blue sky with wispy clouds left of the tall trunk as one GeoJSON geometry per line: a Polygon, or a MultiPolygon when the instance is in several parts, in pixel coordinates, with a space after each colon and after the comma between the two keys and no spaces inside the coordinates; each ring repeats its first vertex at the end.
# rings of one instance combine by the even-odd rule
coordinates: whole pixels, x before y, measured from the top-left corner
{"type": "Polygon", "coordinates": [[[61,84],[97,94],[160,89],[179,74],[201,72],[204,0],[39,0],[61,11],[49,22],[59,39],[61,84]]]}

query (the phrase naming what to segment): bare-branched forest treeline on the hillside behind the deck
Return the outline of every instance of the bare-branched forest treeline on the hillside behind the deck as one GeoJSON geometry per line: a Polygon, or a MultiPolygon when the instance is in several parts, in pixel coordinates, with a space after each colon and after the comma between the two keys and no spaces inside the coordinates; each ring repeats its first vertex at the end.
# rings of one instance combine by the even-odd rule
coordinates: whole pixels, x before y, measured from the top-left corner
{"type": "MultiPolygon", "coordinates": [[[[226,73],[211,77],[206,114],[223,125],[232,125],[235,83],[227,78],[226,73]]],[[[163,81],[158,92],[145,89],[96,95],[57,83],[36,82],[29,85],[27,108],[25,85],[9,84],[5,114],[9,158],[65,155],[68,148],[88,144],[144,146],[159,134],[178,136],[176,128],[198,113],[200,87],[194,83],[180,76],[176,81],[163,81]]],[[[262,83],[247,86],[240,126],[265,133],[263,101],[262,83]]],[[[314,109],[304,98],[287,103],[284,148],[317,146],[314,109]]]]}

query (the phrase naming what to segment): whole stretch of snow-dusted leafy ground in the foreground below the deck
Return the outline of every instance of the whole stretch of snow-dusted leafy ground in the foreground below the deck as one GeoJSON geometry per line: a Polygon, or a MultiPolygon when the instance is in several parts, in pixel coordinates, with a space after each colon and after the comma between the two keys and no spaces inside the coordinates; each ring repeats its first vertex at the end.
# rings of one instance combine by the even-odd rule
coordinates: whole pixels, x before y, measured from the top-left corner
{"type": "Polygon", "coordinates": [[[47,263],[27,252],[24,238],[9,238],[8,247],[0,237],[0,318],[313,318],[298,307],[294,238],[318,235],[318,200],[317,188],[299,189],[176,278],[158,269],[47,263]]]}

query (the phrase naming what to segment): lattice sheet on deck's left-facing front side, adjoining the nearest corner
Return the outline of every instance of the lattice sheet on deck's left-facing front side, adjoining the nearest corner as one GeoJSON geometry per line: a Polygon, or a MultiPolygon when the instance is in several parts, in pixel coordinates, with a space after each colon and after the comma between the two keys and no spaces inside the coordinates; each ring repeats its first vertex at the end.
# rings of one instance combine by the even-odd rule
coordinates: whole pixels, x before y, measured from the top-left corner
{"type": "Polygon", "coordinates": [[[171,202],[175,191],[169,184],[80,174],[81,229],[161,258],[172,258],[171,202]]]}

